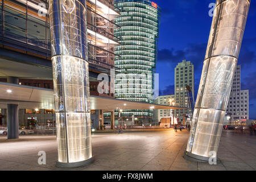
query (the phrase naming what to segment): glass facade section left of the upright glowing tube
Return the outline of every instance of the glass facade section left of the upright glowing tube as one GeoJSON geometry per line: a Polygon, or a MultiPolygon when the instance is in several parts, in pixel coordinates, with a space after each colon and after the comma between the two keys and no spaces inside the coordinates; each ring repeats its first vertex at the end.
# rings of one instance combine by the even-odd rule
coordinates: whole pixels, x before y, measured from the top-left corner
{"type": "Polygon", "coordinates": [[[0,1],[0,35],[5,46],[51,57],[48,1],[0,1]],[[44,6],[44,11],[39,11],[44,6]],[[40,14],[42,13],[42,14],[40,14]]]}

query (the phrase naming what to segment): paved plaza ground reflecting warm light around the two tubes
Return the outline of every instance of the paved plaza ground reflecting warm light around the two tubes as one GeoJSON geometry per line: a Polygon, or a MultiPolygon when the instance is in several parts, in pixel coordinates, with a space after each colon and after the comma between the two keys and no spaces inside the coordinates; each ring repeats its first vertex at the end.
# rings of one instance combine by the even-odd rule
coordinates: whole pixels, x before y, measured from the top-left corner
{"type": "Polygon", "coordinates": [[[54,135],[0,137],[0,170],[256,170],[256,135],[223,131],[217,165],[183,158],[188,131],[173,129],[123,134],[94,133],[94,162],[86,167],[57,168],[54,135]],[[38,152],[46,152],[46,165],[38,164],[38,152]]]}

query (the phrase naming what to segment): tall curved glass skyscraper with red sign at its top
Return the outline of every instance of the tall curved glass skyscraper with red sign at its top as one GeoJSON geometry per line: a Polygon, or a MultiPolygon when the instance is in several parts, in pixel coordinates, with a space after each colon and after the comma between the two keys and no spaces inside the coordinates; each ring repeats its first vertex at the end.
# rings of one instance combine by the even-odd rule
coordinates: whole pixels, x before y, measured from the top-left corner
{"type": "MultiPolygon", "coordinates": [[[[121,28],[114,32],[120,39],[115,67],[121,69],[115,77],[115,98],[152,103],[160,9],[148,0],[115,0],[114,5],[121,10],[121,16],[115,18],[121,28]]],[[[152,110],[122,112],[128,120],[133,115],[138,124],[153,116],[152,110]]]]}

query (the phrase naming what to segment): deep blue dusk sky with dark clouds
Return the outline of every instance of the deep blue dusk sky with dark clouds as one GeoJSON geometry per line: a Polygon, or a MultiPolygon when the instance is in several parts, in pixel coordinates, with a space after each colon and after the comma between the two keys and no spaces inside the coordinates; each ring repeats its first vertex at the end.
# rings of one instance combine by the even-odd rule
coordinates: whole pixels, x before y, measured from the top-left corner
{"type": "MultiPolygon", "coordinates": [[[[174,68],[183,59],[195,65],[195,97],[199,87],[212,17],[214,0],[156,0],[161,9],[159,51],[159,95],[174,94],[174,68]]],[[[238,58],[241,65],[241,89],[249,89],[249,115],[256,119],[256,2],[251,1],[238,58]]]]}

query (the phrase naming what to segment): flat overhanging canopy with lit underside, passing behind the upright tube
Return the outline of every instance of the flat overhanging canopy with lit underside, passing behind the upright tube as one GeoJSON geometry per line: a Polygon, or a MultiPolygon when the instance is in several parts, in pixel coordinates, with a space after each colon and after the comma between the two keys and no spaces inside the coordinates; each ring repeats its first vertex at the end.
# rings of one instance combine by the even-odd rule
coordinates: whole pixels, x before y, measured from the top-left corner
{"type": "MultiPolygon", "coordinates": [[[[0,82],[0,108],[6,108],[7,104],[18,104],[20,109],[54,109],[53,90],[0,82]]],[[[90,96],[90,109],[111,111],[115,109],[186,108],[90,96]]]]}

